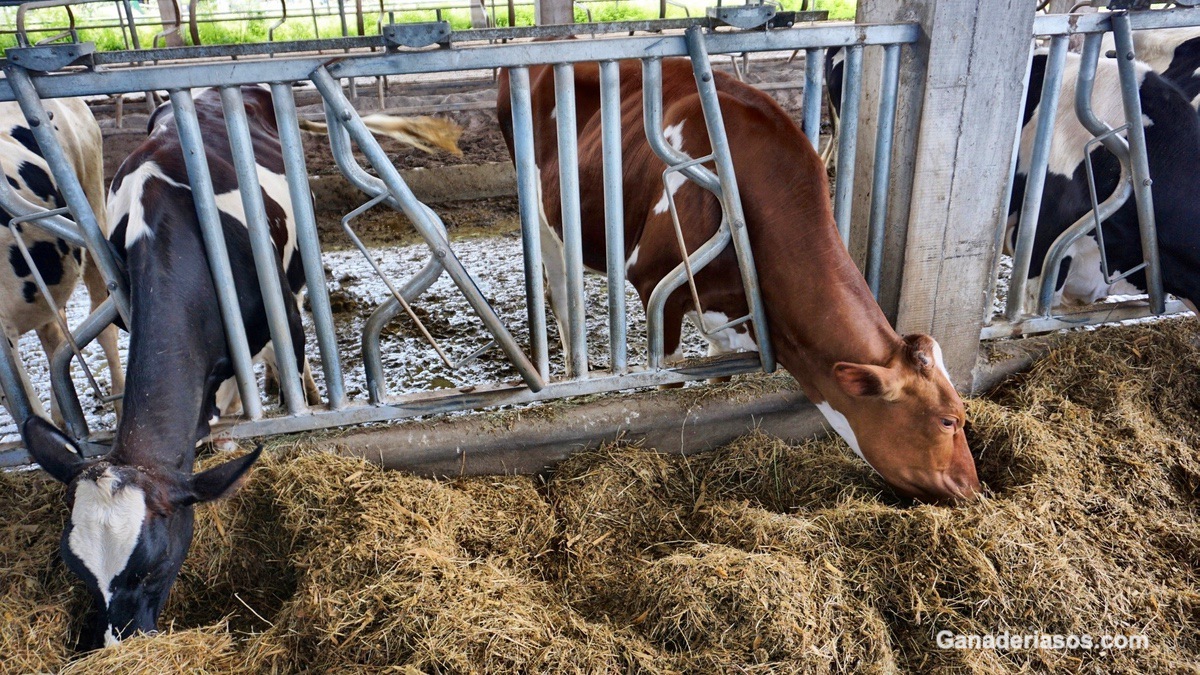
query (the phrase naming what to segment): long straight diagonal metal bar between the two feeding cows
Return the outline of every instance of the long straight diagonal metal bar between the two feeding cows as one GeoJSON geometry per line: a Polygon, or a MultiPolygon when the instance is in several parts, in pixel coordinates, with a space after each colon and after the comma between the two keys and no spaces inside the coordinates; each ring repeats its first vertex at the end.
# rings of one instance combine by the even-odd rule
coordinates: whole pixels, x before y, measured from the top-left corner
{"type": "Polygon", "coordinates": [[[354,108],[342,94],[337,80],[324,67],[314,70],[311,73],[311,79],[332,107],[335,117],[340,118],[346,125],[346,131],[349,132],[359,149],[366,155],[367,161],[371,162],[371,166],[374,167],[376,172],[379,173],[380,178],[388,185],[391,196],[403,207],[404,215],[408,216],[433,253],[442,261],[446,273],[455,281],[455,285],[458,286],[458,289],[462,291],[467,301],[470,303],[472,309],[475,310],[475,313],[484,321],[487,330],[496,338],[497,344],[504,350],[509,360],[512,362],[517,372],[521,374],[522,380],[524,380],[530,389],[541,389],[545,386],[541,375],[521,351],[521,347],[496,315],[496,311],[487,304],[487,299],[480,293],[479,287],[475,286],[474,280],[462,265],[462,262],[450,250],[449,241],[438,231],[438,226],[433,220],[430,219],[427,208],[408,189],[396,167],[392,166],[388,154],[384,153],[379,143],[371,136],[371,131],[362,124],[362,119],[355,114],[354,108]]]}

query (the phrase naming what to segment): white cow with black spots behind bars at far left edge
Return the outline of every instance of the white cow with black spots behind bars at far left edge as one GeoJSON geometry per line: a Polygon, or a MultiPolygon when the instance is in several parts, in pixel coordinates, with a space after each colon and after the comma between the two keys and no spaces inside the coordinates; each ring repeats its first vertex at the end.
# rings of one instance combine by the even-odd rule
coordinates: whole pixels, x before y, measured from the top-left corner
{"type": "MultiPolygon", "coordinates": [[[[100,126],[82,100],[59,98],[43,104],[96,220],[101,229],[106,229],[104,157],[100,126]]],[[[36,207],[58,209],[66,205],[20,107],[12,102],[0,103],[0,173],[18,197],[36,207]]],[[[7,227],[12,217],[13,214],[0,208],[0,251],[7,261],[7,264],[0,264],[0,324],[13,344],[25,333],[36,330],[46,356],[50,357],[66,338],[34,281],[34,270],[17,246],[12,229],[7,227]]],[[[92,309],[108,297],[103,277],[96,265],[88,264],[84,250],[31,225],[17,225],[14,229],[28,246],[58,306],[66,305],[80,276],[91,297],[92,309]]],[[[107,328],[98,341],[108,359],[113,393],[120,393],[125,378],[116,351],[116,328],[107,328]]],[[[58,401],[52,400],[50,405],[54,419],[61,420],[58,401]]]]}

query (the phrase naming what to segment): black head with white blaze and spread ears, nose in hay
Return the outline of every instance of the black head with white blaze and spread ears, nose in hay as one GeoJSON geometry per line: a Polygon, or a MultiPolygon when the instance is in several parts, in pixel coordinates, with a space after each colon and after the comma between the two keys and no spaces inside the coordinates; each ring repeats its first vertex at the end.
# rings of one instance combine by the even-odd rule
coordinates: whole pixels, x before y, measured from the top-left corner
{"type": "Polygon", "coordinates": [[[67,485],[71,518],[62,530],[62,560],[94,601],[79,639],[84,650],[157,631],[192,543],[192,506],[233,491],[262,452],[193,476],[84,459],[73,441],[40,417],[25,423],[23,435],[37,464],[67,485]]]}

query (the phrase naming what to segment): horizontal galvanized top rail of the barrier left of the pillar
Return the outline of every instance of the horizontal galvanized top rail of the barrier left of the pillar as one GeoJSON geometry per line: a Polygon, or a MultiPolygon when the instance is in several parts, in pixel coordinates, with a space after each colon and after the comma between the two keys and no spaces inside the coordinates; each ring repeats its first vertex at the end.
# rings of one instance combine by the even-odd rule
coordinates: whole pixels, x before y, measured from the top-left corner
{"type": "MultiPolygon", "coordinates": [[[[848,44],[890,44],[916,42],[917,24],[824,25],[788,30],[719,32],[708,38],[712,54],[774,52],[838,47],[848,44]]],[[[205,47],[208,48],[208,47],[205,47]]],[[[233,53],[236,53],[234,50],[233,53]]],[[[610,40],[563,40],[486,47],[427,49],[421,52],[364,53],[347,55],[330,73],[336,77],[378,77],[397,73],[431,73],[464,70],[490,70],[528,64],[566,64],[582,61],[683,56],[688,53],[683,36],[614,37],[610,40]]],[[[199,55],[211,55],[200,53],[199,55]]],[[[145,60],[139,53],[128,60],[145,60]]],[[[38,76],[43,97],[88,96],[180,89],[232,86],[260,82],[307,79],[314,68],[324,66],[328,55],[304,55],[274,60],[238,60],[221,62],[185,62],[145,68],[109,68],[106,71],[68,72],[38,76]]],[[[0,101],[11,101],[12,83],[0,80],[0,101]]]]}

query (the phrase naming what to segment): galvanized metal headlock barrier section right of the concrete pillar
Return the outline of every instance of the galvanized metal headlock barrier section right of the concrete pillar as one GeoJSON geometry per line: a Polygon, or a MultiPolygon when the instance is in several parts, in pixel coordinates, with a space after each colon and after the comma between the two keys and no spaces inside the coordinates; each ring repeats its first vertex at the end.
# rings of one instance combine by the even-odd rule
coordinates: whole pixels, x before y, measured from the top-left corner
{"type": "MultiPolygon", "coordinates": [[[[1100,41],[1105,32],[1112,32],[1117,53],[1124,55],[1134,53],[1133,30],[1182,26],[1200,26],[1200,10],[1176,8],[1081,16],[1051,14],[1039,16],[1034,19],[1034,36],[1049,38],[1050,41],[1045,80],[1042,88],[1042,97],[1038,102],[1040,113],[1034,131],[1030,172],[1026,178],[1025,196],[1020,209],[1020,228],[1013,251],[1013,270],[1009,279],[1008,297],[1002,316],[988,317],[989,321],[982,331],[984,339],[1046,333],[1062,328],[1092,325],[1187,310],[1183,303],[1169,299],[1163,291],[1154,226],[1154,205],[1151,193],[1153,177],[1150,175],[1150,167],[1146,159],[1146,139],[1141,124],[1138,76],[1132,60],[1127,58],[1116,59],[1121,82],[1124,124],[1116,129],[1110,127],[1099,120],[1092,110],[1096,68],[1100,58],[1100,41]],[[1055,115],[1046,114],[1046,112],[1052,112],[1058,106],[1068,40],[1073,34],[1085,35],[1080,70],[1075,85],[1074,109],[1080,124],[1093,136],[1091,141],[1079,148],[1080,156],[1085,162],[1091,180],[1092,208],[1055,239],[1042,263],[1040,287],[1037,288],[1036,305],[1026,306],[1028,270],[1033,258],[1034,235],[1037,233],[1039,208],[1050,161],[1050,144],[1055,131],[1055,115]],[[1124,136],[1121,136],[1122,132],[1124,136]],[[1094,179],[1091,178],[1090,154],[1096,144],[1103,144],[1121,163],[1121,178],[1117,181],[1117,189],[1103,202],[1098,202],[1094,179]],[[1112,275],[1110,274],[1102,246],[1100,264],[1109,283],[1115,283],[1136,271],[1144,271],[1146,275],[1147,299],[1105,303],[1099,306],[1085,307],[1084,310],[1068,310],[1064,313],[1054,313],[1055,281],[1058,277],[1058,270],[1070,245],[1093,231],[1103,237],[1099,223],[1115,214],[1130,197],[1135,199],[1138,209],[1142,263],[1118,275],[1112,275]]],[[[1028,90],[1028,73],[1026,73],[1026,91],[1028,90]]],[[[1018,135],[1016,139],[1016,144],[1019,143],[1020,135],[1018,135]]],[[[1012,178],[1009,179],[1009,195],[1012,195],[1015,175],[1016,155],[1014,153],[1012,178]]],[[[1002,247],[1007,217],[1006,213],[997,227],[997,251],[1002,247]]],[[[990,297],[995,297],[995,293],[994,277],[990,297]]],[[[988,306],[990,307],[991,303],[988,306]]]]}

